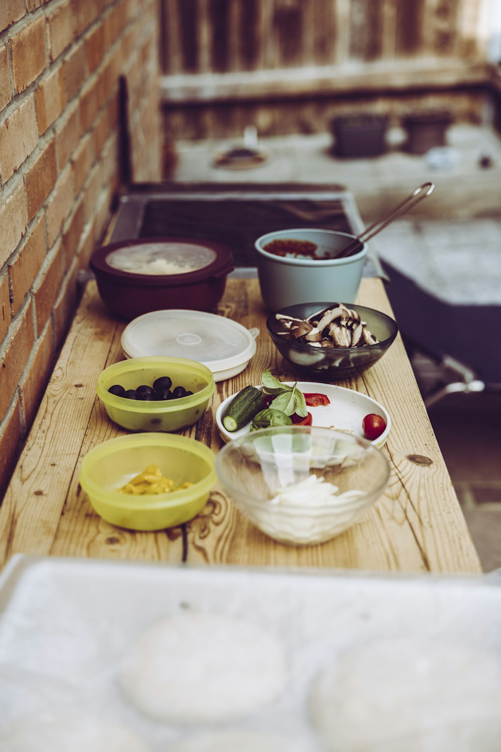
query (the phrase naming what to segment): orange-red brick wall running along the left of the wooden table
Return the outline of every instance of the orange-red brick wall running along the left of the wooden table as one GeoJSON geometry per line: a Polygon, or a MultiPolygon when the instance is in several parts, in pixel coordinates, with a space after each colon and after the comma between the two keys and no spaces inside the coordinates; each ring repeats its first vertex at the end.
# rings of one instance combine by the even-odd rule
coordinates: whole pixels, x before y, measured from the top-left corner
{"type": "Polygon", "coordinates": [[[119,188],[161,164],[157,0],[0,0],[0,493],[119,188]]]}

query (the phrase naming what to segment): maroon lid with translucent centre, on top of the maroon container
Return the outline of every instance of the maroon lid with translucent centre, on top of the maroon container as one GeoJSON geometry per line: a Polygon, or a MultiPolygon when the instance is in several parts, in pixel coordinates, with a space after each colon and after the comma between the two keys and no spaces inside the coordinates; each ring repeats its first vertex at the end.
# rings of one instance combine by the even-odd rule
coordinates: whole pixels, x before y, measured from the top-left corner
{"type": "Polygon", "coordinates": [[[134,238],[104,245],[92,253],[96,277],[125,286],[179,287],[234,269],[231,250],[217,241],[198,238],[134,238]]]}

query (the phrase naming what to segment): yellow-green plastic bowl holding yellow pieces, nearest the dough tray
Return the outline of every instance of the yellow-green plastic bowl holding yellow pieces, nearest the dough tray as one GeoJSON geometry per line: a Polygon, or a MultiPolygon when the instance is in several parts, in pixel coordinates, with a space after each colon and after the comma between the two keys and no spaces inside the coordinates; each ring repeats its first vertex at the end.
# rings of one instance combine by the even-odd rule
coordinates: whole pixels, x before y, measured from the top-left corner
{"type": "Polygon", "coordinates": [[[119,436],[90,450],[80,468],[80,485],[104,520],[132,530],[161,530],[192,520],[216,483],[214,453],[188,436],[140,433],[119,436]],[[119,488],[148,465],[158,465],[176,487],[170,493],[129,496],[119,488]]]}

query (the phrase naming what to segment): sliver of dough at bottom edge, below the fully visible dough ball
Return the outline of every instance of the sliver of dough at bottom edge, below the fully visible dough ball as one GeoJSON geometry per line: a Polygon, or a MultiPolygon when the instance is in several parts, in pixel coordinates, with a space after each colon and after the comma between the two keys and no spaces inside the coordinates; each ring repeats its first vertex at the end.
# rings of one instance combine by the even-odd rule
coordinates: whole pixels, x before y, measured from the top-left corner
{"type": "Polygon", "coordinates": [[[208,732],[177,744],[171,752],[312,752],[311,744],[255,731],[208,732]]]}

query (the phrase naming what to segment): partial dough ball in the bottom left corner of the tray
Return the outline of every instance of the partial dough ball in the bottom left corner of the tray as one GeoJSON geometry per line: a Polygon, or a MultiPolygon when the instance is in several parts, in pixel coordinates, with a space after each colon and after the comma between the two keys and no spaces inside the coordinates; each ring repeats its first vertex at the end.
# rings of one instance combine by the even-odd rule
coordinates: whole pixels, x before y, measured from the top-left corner
{"type": "Polygon", "coordinates": [[[149,752],[128,729],[86,715],[29,716],[0,730],[2,752],[149,752]]]}

